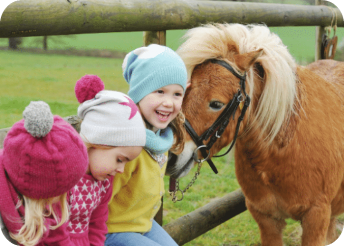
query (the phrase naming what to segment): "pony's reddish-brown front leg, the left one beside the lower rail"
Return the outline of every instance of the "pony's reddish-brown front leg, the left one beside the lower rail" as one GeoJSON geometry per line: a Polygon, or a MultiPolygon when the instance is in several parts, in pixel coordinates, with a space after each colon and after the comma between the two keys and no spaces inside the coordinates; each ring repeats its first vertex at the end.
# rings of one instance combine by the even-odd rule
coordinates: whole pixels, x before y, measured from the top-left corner
{"type": "Polygon", "coordinates": [[[283,246],[282,232],[286,226],[284,219],[276,219],[256,210],[250,203],[246,203],[247,209],[258,223],[262,246],[283,246]]]}

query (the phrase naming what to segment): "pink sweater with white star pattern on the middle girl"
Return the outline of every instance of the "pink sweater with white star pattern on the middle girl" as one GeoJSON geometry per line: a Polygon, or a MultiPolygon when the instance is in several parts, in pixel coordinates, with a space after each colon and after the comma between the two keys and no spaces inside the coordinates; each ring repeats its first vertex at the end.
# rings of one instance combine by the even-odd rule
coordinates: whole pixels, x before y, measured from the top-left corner
{"type": "Polygon", "coordinates": [[[69,191],[69,220],[49,236],[69,235],[59,242],[63,246],[104,246],[112,182],[113,177],[98,181],[84,175],[69,191]]]}

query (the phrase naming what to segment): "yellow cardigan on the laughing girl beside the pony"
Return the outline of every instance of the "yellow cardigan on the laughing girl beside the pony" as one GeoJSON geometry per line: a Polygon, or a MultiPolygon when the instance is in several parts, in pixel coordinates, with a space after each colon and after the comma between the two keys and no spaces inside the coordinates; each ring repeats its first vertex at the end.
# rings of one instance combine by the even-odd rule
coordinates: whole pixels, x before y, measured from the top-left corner
{"type": "Polygon", "coordinates": [[[167,162],[154,160],[145,150],[125,164],[117,174],[109,202],[109,233],[148,232],[165,194],[164,175],[167,162]]]}

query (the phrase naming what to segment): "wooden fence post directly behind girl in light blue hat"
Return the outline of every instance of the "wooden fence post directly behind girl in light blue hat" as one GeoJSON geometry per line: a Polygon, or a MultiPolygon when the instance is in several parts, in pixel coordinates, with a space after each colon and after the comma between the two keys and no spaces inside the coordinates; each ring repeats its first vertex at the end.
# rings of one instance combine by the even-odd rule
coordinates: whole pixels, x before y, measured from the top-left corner
{"type": "MultiPolygon", "coordinates": [[[[143,46],[149,44],[166,45],[166,30],[163,31],[143,31],[143,46]]],[[[163,204],[164,197],[161,198],[161,207],[155,215],[154,220],[159,224],[163,224],[163,204]]]]}

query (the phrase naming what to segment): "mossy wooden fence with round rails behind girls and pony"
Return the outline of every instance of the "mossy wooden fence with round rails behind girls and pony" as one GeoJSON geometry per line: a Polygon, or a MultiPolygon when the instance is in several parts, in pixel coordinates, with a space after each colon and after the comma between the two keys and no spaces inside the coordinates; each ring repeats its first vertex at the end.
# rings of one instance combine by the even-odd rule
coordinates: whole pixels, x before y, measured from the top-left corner
{"type": "MultiPolygon", "coordinates": [[[[207,22],[320,26],[317,36],[331,23],[344,27],[339,9],[321,5],[210,0],[20,0],[1,14],[0,37],[144,31],[144,45],[166,45],[166,30],[190,29],[207,22]]],[[[77,129],[80,126],[77,118],[66,120],[77,129]]],[[[0,148],[8,130],[0,129],[0,148]]],[[[178,245],[184,245],[245,210],[245,198],[236,190],[164,225],[164,229],[178,245]]],[[[159,216],[162,221],[162,213],[159,216]]]]}

